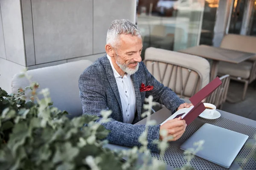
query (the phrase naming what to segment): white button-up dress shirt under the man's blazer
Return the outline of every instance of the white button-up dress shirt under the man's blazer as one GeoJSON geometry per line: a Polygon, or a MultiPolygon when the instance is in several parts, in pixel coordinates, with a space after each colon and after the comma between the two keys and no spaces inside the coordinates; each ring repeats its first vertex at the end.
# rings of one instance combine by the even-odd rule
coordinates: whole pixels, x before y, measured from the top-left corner
{"type": "Polygon", "coordinates": [[[134,85],[131,80],[131,76],[128,74],[125,74],[124,77],[120,76],[120,74],[116,71],[116,69],[113,66],[111,57],[109,55],[107,55],[107,57],[109,59],[116,79],[116,84],[118,87],[122,103],[123,121],[124,123],[131,123],[134,120],[134,116],[137,109],[134,85]]]}

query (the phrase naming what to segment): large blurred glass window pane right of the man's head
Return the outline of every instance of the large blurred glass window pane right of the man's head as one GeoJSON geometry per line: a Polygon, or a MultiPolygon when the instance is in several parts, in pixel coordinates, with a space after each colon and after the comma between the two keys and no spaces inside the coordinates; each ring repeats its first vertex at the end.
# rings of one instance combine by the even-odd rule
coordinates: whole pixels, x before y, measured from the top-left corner
{"type": "Polygon", "coordinates": [[[199,44],[205,0],[139,0],[137,24],[148,47],[179,51],[199,44]]]}

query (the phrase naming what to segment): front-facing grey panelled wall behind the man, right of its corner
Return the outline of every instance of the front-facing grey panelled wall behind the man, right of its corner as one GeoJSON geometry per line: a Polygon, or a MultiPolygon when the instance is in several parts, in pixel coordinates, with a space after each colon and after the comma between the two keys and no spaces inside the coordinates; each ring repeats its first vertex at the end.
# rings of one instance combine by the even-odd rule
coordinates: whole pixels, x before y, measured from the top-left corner
{"type": "Polygon", "coordinates": [[[111,21],[134,19],[135,1],[121,1],[22,0],[29,69],[103,56],[111,21]]]}

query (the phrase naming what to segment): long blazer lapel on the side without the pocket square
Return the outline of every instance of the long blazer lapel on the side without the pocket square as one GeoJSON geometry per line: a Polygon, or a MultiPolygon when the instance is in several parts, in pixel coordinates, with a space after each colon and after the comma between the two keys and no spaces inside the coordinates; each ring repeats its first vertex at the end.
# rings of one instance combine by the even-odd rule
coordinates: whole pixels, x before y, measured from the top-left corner
{"type": "MultiPolygon", "coordinates": [[[[118,104],[119,104],[119,107],[120,107],[120,110],[121,110],[121,113],[122,113],[122,103],[121,103],[121,99],[120,99],[120,94],[119,94],[119,91],[118,91],[118,87],[117,87],[117,84],[116,84],[116,79],[114,77],[114,73],[113,73],[113,69],[110,65],[110,61],[108,60],[108,57],[107,55],[105,55],[105,59],[103,60],[105,63],[104,63],[104,67],[105,67],[105,71],[106,71],[106,75],[107,75],[107,78],[108,78],[108,81],[109,81],[109,84],[116,96],[116,99],[118,101],[118,104]]],[[[123,113],[122,113],[122,121],[123,121],[123,113]]]]}

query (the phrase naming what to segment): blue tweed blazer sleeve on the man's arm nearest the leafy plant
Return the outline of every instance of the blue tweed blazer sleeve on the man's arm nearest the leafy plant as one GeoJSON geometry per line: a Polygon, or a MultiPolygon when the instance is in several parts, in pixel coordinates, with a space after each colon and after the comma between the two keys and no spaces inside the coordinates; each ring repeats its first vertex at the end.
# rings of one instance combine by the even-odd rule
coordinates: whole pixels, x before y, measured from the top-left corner
{"type": "MultiPolygon", "coordinates": [[[[93,74],[83,73],[79,77],[80,98],[83,107],[83,115],[96,115],[99,117],[96,122],[102,119],[101,111],[108,111],[109,108],[106,102],[105,85],[100,82],[100,79],[93,74]]],[[[145,125],[132,125],[116,121],[110,116],[110,121],[102,124],[111,132],[106,139],[112,144],[118,144],[127,147],[138,146],[140,135],[145,131],[145,125]]],[[[148,126],[148,148],[152,152],[159,152],[155,140],[159,140],[160,125],[148,126]]]]}

